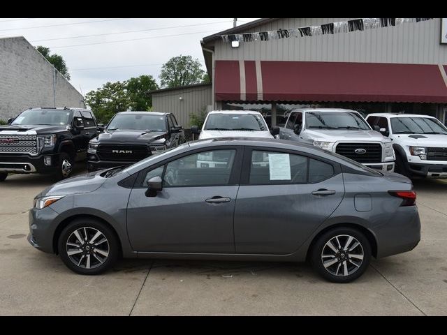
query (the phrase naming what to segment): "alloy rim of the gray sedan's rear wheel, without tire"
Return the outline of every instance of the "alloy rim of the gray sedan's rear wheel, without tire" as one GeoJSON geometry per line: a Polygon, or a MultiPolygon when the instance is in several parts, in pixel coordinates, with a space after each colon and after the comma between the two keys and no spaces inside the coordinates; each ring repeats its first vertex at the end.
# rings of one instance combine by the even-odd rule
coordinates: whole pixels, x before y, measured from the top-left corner
{"type": "Polygon", "coordinates": [[[349,276],[362,265],[365,253],[362,244],[351,235],[332,237],[323,246],[321,262],[323,267],[334,276],[349,276]]]}

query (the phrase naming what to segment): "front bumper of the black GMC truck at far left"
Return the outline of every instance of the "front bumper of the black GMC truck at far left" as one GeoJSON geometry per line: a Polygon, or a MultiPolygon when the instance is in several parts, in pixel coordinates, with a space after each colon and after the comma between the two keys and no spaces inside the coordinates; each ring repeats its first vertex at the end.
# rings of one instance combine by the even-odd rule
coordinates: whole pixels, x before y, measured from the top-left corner
{"type": "Polygon", "coordinates": [[[43,154],[39,156],[0,155],[0,172],[4,173],[52,173],[57,170],[59,154],[43,154]],[[45,165],[44,158],[51,157],[51,164],[45,165]]]}

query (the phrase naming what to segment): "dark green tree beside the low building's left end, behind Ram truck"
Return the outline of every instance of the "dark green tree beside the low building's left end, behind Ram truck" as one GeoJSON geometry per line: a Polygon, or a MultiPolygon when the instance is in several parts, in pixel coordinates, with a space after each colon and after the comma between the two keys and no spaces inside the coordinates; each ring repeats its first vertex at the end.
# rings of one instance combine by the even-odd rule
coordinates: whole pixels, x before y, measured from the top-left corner
{"type": "Polygon", "coordinates": [[[159,89],[152,75],[141,75],[127,81],[126,90],[131,110],[149,110],[152,107],[152,96],[148,91],[159,89]]]}

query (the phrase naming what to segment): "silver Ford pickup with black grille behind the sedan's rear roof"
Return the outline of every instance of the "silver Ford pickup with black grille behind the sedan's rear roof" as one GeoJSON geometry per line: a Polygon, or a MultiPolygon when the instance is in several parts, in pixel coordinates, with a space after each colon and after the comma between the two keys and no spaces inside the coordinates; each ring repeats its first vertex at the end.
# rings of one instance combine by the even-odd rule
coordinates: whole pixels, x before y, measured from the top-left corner
{"type": "Polygon", "coordinates": [[[279,137],[313,144],[369,168],[393,172],[395,153],[388,137],[374,131],[354,110],[309,108],[292,110],[279,137]]]}

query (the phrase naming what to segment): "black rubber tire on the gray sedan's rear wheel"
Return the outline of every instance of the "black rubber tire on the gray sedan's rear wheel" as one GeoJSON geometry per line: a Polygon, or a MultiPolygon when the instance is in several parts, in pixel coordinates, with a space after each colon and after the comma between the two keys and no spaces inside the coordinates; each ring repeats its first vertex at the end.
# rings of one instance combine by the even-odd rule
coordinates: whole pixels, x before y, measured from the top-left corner
{"type": "MultiPolygon", "coordinates": [[[[337,244],[335,244],[334,246],[337,248],[337,244]]],[[[347,249],[349,250],[349,248],[347,249]]],[[[325,232],[323,235],[321,235],[321,237],[318,238],[318,240],[312,247],[310,261],[314,270],[326,280],[332,281],[332,283],[349,283],[362,276],[362,274],[366,271],[369,262],[371,261],[371,246],[365,235],[356,229],[343,227],[334,228],[332,230],[329,230],[328,232],[325,232]],[[345,242],[348,241],[349,237],[353,237],[353,240],[351,244],[349,244],[349,247],[356,245],[356,241],[354,239],[358,241],[360,247],[356,246],[353,251],[348,253],[344,253],[342,251],[335,258],[328,258],[328,256],[326,255],[331,254],[331,252],[334,251],[332,251],[332,249],[330,249],[329,246],[327,246],[326,244],[328,244],[329,241],[335,239],[336,237],[339,239],[342,247],[344,247],[344,244],[346,244],[345,242]],[[324,257],[323,248],[325,251],[324,257]],[[359,260],[358,255],[360,255],[361,253],[362,260],[359,260]],[[352,255],[356,255],[356,258],[353,258],[352,255]],[[326,268],[325,265],[323,265],[323,258],[325,259],[325,262],[332,260],[335,260],[337,262],[330,266],[326,265],[328,267],[326,268]],[[355,262],[357,265],[353,265],[351,261],[355,262]],[[346,262],[347,275],[341,273],[344,272],[344,262],[346,262]],[[334,272],[339,273],[339,275],[335,275],[334,272]]]]}

